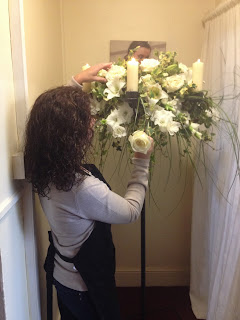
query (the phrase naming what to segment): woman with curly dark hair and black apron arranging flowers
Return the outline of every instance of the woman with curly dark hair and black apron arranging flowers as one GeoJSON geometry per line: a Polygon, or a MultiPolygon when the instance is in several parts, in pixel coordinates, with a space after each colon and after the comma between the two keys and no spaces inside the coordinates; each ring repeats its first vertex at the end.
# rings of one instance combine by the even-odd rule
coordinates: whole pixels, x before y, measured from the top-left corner
{"type": "Polygon", "coordinates": [[[93,66],[75,76],[72,86],[44,92],[26,127],[26,178],[39,194],[51,227],[45,270],[48,290],[52,282],[57,289],[62,320],[120,319],[110,224],[139,217],[148,184],[152,148],[146,155],[135,153],[124,197],[87,164],[94,121],[81,84],[104,82],[98,71],[110,67],[93,66]]]}

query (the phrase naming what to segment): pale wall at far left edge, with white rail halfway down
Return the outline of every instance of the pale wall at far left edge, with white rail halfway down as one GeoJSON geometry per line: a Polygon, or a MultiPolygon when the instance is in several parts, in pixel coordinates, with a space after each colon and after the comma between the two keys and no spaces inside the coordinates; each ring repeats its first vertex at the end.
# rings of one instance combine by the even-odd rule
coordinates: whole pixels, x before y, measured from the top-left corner
{"type": "Polygon", "coordinates": [[[8,0],[0,2],[0,269],[5,298],[3,303],[0,296],[0,304],[5,309],[7,320],[28,320],[23,219],[11,162],[12,154],[17,151],[18,139],[8,5],[8,0]]]}

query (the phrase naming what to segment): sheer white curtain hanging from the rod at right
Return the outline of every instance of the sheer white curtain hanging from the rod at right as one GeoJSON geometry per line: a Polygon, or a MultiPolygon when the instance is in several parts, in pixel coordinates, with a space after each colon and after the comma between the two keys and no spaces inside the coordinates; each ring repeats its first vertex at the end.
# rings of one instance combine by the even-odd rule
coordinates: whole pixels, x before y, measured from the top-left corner
{"type": "MultiPolygon", "coordinates": [[[[205,20],[202,60],[205,88],[223,96],[240,138],[240,101],[233,99],[240,93],[240,1],[205,20]]],[[[240,320],[240,162],[227,130],[222,122],[215,150],[206,150],[209,172],[199,164],[202,185],[197,178],[194,184],[190,297],[198,319],[240,320]]]]}

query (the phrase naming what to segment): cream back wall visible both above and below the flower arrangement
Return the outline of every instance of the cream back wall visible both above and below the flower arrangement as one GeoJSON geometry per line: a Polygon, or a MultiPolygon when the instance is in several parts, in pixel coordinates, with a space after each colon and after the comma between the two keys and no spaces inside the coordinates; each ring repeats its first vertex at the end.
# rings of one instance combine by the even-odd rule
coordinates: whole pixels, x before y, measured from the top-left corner
{"type": "MultiPolygon", "coordinates": [[[[191,66],[201,55],[201,19],[215,7],[215,0],[68,0],[62,3],[65,81],[85,63],[109,61],[110,40],[166,41],[167,50],[177,51],[179,61],[191,66]]],[[[152,183],[158,208],[153,201],[147,206],[148,285],[181,285],[189,281],[192,174],[190,169],[186,181],[184,172],[179,177],[176,156],[175,146],[175,170],[169,180],[168,161],[158,160],[161,165],[156,168],[152,183]]],[[[104,175],[109,180],[115,169],[112,160],[106,168],[104,175]]],[[[123,169],[118,177],[115,175],[111,179],[113,190],[124,194],[128,176],[123,169]]],[[[139,222],[113,226],[119,285],[139,284],[139,229],[139,222]]]]}

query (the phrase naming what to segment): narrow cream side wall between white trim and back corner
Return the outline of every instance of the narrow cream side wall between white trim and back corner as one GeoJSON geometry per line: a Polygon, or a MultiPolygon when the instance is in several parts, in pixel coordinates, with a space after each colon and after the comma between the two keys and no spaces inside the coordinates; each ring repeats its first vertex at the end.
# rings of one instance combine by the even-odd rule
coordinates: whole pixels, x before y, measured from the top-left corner
{"type": "MultiPolygon", "coordinates": [[[[61,1],[24,0],[29,105],[43,91],[63,84],[61,1]]],[[[42,320],[46,319],[46,284],[43,270],[48,248],[49,226],[36,199],[36,229],[39,253],[39,277],[42,320]]],[[[54,319],[58,316],[54,303],[54,319]]]]}

